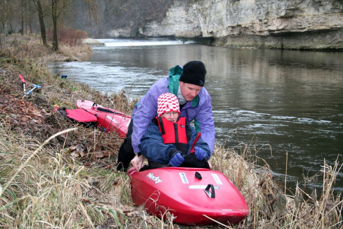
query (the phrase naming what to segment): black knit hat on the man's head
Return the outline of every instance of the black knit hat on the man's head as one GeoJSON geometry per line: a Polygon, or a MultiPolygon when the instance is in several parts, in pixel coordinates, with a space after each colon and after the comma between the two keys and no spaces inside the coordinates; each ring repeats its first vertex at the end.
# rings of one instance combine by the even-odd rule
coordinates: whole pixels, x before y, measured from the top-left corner
{"type": "Polygon", "coordinates": [[[180,81],[187,84],[204,86],[205,84],[205,65],[201,61],[190,61],[183,67],[180,81]]]}

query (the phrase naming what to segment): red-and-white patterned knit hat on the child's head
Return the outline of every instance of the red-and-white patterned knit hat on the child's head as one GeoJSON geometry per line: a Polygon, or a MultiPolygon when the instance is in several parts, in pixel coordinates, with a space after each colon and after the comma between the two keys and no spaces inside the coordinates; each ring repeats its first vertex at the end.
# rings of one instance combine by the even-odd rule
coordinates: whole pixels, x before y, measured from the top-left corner
{"type": "Polygon", "coordinates": [[[178,98],[171,93],[164,93],[157,99],[157,116],[160,117],[166,112],[178,112],[180,115],[180,105],[178,98]]]}

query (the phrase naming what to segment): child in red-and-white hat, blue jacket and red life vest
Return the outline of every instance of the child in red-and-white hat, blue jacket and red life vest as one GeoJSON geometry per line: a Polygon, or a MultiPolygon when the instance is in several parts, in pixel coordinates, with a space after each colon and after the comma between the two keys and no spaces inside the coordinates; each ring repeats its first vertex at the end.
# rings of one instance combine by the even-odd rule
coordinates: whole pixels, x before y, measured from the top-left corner
{"type": "Polygon", "coordinates": [[[173,167],[209,167],[209,145],[199,138],[194,147],[195,154],[190,155],[197,133],[185,117],[179,116],[180,105],[176,95],[160,95],[157,100],[157,117],[141,138],[141,154],[147,158],[151,168],[168,164],[173,167]]]}

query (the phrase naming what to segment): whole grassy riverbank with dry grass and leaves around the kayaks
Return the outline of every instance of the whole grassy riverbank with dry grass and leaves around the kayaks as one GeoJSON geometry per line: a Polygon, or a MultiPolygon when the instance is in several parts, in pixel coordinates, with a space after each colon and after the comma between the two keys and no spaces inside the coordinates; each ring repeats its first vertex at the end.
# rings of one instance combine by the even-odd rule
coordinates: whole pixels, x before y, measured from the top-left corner
{"type": "MultiPolygon", "coordinates": [[[[87,49],[66,47],[54,55],[65,60],[87,49]]],[[[53,112],[54,104],[75,108],[77,99],[87,99],[130,114],[135,101],[51,75],[45,67],[51,53],[39,41],[13,43],[0,53],[0,228],[202,228],[173,224],[170,215],[161,221],[135,206],[128,176],[115,171],[122,139],[53,112]],[[22,98],[19,74],[27,88],[43,88],[22,98]]],[[[226,227],[342,227],[342,200],[332,193],[338,164],[324,165],[322,195],[300,188],[285,195],[268,165],[255,164],[256,151],[248,144],[215,145],[213,169],[234,182],[250,208],[241,224],[226,227]]]]}

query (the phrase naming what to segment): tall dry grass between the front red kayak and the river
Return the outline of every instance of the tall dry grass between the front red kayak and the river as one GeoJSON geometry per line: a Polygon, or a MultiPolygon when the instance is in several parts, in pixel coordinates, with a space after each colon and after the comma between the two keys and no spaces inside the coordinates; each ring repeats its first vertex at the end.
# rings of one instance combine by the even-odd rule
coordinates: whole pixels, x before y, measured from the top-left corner
{"type": "Polygon", "coordinates": [[[234,228],[342,228],[342,197],[333,194],[342,167],[338,160],[334,165],[323,165],[322,195],[314,199],[298,186],[294,195],[285,195],[268,165],[257,165],[251,149],[255,147],[244,145],[237,154],[235,149],[216,145],[211,158],[213,167],[233,181],[250,208],[248,217],[234,228]]]}

